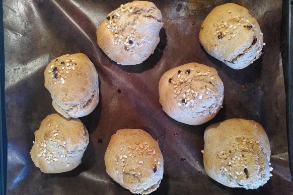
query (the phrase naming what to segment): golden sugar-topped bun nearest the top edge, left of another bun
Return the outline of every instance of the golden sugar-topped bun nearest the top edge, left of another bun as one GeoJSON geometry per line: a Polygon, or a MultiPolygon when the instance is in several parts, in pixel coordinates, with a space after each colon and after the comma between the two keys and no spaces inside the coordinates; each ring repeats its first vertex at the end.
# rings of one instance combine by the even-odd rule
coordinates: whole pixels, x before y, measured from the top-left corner
{"type": "Polygon", "coordinates": [[[161,21],[161,11],[151,2],[121,5],[98,27],[97,44],[118,64],[140,64],[160,42],[161,21]]]}

